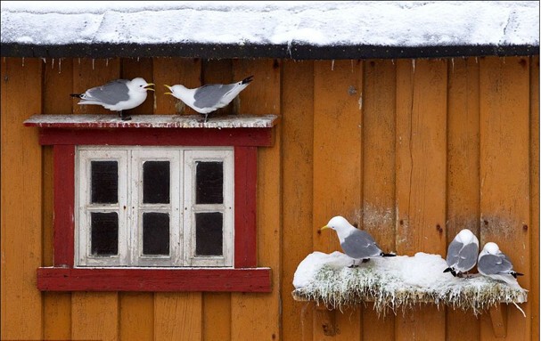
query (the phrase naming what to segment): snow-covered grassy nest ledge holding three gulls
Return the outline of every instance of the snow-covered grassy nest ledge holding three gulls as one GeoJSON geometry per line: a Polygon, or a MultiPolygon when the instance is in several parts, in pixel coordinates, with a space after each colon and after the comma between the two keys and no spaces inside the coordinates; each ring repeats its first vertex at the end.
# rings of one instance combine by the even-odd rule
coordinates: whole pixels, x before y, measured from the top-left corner
{"type": "Polygon", "coordinates": [[[500,302],[524,303],[528,296],[518,283],[509,286],[483,276],[465,279],[444,273],[447,264],[439,255],[419,252],[372,259],[357,268],[349,268],[351,264],[352,259],[338,251],[308,255],[295,272],[293,297],[329,309],[373,301],[378,314],[433,302],[477,315],[500,302]]]}

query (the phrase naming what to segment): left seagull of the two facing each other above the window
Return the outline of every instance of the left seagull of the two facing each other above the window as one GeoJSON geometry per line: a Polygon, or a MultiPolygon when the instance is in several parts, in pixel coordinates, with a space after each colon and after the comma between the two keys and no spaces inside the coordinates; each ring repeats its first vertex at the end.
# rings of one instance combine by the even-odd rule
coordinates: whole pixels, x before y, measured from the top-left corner
{"type": "Polygon", "coordinates": [[[132,80],[116,79],[106,85],[96,86],[86,90],[85,93],[71,93],[71,97],[80,98],[78,104],[97,104],[111,111],[119,111],[119,117],[123,121],[130,120],[129,116],[124,116],[122,110],[133,109],[146,100],[147,90],[154,89],[147,87],[154,85],[146,83],[142,77],[136,77],[132,80]]]}

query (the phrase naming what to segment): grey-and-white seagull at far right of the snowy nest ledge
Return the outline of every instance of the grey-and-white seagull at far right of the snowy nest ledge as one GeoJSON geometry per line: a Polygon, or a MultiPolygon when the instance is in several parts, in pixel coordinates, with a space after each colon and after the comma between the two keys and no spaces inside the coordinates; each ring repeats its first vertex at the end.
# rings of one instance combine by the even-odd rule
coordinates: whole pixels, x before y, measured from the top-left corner
{"type": "Polygon", "coordinates": [[[523,273],[512,270],[511,260],[500,251],[496,243],[489,241],[479,255],[477,269],[480,274],[507,284],[517,284],[517,276],[523,273]]]}

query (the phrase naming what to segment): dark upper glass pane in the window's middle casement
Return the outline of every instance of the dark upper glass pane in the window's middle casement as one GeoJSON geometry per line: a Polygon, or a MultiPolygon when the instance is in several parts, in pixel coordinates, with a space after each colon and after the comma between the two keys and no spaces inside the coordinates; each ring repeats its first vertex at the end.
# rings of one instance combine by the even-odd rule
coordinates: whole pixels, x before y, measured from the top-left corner
{"type": "Polygon", "coordinates": [[[143,163],[143,203],[169,203],[169,161],[143,163]]]}

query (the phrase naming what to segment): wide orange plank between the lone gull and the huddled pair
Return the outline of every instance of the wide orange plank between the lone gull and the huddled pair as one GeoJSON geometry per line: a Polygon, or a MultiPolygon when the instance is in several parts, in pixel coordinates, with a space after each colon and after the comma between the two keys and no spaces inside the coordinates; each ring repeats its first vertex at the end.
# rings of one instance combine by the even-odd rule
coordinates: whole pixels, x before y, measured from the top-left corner
{"type": "MultiPolygon", "coordinates": [[[[397,252],[444,255],[447,61],[397,64],[397,252]]],[[[445,313],[423,304],[397,316],[397,339],[445,338],[445,313]]]]}

